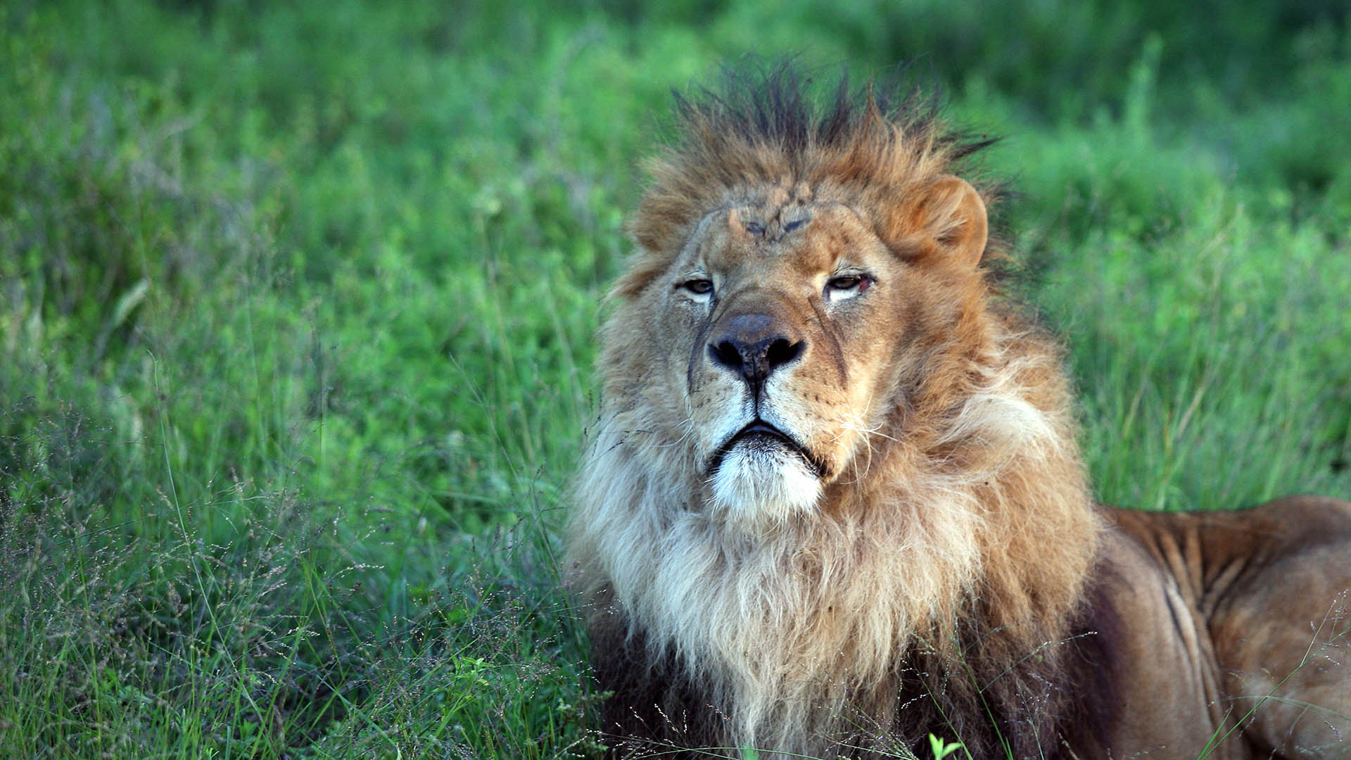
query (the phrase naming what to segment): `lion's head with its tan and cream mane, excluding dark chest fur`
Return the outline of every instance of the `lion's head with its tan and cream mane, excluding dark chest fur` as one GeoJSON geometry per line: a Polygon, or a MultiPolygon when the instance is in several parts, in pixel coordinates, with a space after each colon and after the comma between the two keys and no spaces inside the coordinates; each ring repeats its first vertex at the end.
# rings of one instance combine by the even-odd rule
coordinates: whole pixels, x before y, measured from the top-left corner
{"type": "Polygon", "coordinates": [[[1058,634],[1096,530],[1066,383],[986,283],[982,142],[784,72],[678,114],[601,333],[574,583],[727,741],[820,749],[973,615],[1009,657],[1058,634]]]}

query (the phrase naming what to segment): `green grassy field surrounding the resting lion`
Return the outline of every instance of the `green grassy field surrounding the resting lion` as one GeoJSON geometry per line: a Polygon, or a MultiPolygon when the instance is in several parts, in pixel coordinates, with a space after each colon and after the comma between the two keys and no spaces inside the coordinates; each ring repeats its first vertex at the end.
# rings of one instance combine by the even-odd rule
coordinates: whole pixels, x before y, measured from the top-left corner
{"type": "Polygon", "coordinates": [[[915,61],[1101,499],[1351,496],[1343,3],[0,5],[0,756],[588,756],[554,557],[671,88],[915,61]]]}

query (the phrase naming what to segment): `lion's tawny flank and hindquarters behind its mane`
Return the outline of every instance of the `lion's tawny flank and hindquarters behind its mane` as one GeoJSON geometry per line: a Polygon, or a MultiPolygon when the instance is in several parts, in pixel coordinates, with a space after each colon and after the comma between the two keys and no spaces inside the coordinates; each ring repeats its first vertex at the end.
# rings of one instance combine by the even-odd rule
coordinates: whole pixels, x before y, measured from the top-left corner
{"type": "Polygon", "coordinates": [[[1351,757],[1351,503],[1111,517],[1113,755],[1351,757]]]}

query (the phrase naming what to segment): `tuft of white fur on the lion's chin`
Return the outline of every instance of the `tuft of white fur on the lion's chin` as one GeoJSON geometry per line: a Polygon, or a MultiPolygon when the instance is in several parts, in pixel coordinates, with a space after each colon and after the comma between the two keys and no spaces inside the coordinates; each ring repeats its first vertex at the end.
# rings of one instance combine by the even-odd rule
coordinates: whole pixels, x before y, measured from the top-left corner
{"type": "Polygon", "coordinates": [[[808,513],[820,495],[820,480],[807,462],[780,446],[738,444],[713,475],[713,508],[746,527],[808,513]]]}

